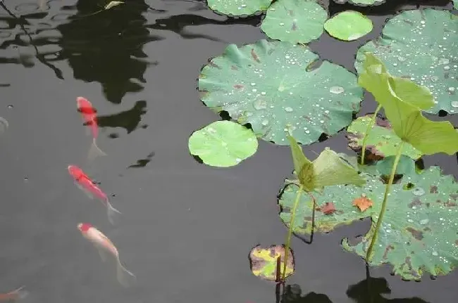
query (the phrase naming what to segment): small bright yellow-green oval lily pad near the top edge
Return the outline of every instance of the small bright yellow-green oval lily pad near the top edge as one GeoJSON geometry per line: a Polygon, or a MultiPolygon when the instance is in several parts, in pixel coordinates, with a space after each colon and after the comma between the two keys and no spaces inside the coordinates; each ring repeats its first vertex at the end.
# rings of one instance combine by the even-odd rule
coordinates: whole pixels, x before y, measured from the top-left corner
{"type": "Polygon", "coordinates": [[[324,29],[334,38],[352,41],[369,34],[372,20],[357,11],[342,11],[324,24],[324,29]]]}

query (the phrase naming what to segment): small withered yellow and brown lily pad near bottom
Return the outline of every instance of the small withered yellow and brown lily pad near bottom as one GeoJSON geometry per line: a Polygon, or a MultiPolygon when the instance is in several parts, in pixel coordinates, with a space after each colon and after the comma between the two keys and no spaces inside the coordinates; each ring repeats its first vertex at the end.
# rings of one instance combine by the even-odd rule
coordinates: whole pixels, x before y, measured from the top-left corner
{"type": "MultiPolygon", "coordinates": [[[[249,252],[249,265],[254,276],[264,280],[276,281],[279,276],[282,276],[285,260],[285,246],[271,245],[271,247],[261,247],[257,245],[249,252]],[[280,257],[280,269],[277,268],[278,257],[280,257]]],[[[292,250],[287,257],[285,278],[291,276],[295,271],[295,257],[292,250]]]]}

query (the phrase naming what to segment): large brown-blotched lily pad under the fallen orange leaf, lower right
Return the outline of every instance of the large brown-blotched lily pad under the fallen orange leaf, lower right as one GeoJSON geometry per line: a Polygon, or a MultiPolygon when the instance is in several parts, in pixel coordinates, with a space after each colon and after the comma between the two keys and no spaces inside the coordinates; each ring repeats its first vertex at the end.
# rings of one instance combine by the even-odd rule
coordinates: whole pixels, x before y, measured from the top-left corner
{"type": "MultiPolygon", "coordinates": [[[[371,217],[372,225],[366,236],[354,243],[344,239],[346,250],[366,256],[374,220],[383,201],[385,184],[379,176],[366,175],[366,186],[328,186],[323,193],[314,193],[318,205],[333,202],[332,214],[315,214],[315,230],[332,231],[342,224],[351,224],[371,217]],[[361,212],[352,204],[357,198],[373,201],[371,207],[361,212]]],[[[289,184],[280,197],[281,219],[288,224],[290,209],[298,187],[289,184]]],[[[311,232],[312,202],[307,195],[297,207],[296,233],[311,232]]],[[[385,217],[374,245],[371,266],[390,263],[393,273],[406,280],[419,280],[423,273],[445,275],[458,265],[458,184],[453,176],[443,176],[439,167],[430,167],[421,174],[404,175],[400,183],[391,186],[385,217]]]]}

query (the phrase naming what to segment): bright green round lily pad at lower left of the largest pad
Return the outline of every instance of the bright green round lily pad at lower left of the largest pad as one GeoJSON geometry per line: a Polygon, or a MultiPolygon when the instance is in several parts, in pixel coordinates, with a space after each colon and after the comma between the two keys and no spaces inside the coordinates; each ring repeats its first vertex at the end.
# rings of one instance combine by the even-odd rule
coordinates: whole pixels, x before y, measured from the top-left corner
{"type": "Polygon", "coordinates": [[[230,121],[216,121],[194,131],[188,143],[190,153],[211,166],[237,165],[256,153],[258,140],[253,132],[230,121]]]}

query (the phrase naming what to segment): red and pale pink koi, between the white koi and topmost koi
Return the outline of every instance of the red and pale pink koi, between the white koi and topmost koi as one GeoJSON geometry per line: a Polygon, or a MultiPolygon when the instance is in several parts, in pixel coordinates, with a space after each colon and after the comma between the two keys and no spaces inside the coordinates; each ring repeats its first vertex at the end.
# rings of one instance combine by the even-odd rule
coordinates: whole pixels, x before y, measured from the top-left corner
{"type": "Polygon", "coordinates": [[[95,196],[97,199],[101,200],[102,203],[104,203],[106,206],[106,213],[108,214],[108,220],[111,224],[114,224],[114,218],[116,217],[116,214],[120,214],[121,212],[114,208],[113,205],[111,205],[106,193],[101,191],[99,186],[94,184],[94,182],[89,179],[89,176],[87,176],[82,171],[82,169],[80,169],[80,167],[75,165],[68,165],[68,173],[70,176],[73,176],[75,185],[78,186],[78,188],[80,188],[80,190],[82,190],[84,193],[86,193],[89,199],[93,199],[95,196]]]}

